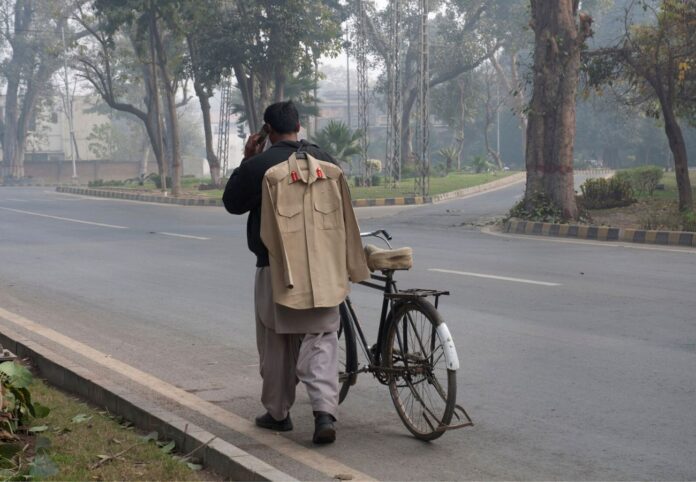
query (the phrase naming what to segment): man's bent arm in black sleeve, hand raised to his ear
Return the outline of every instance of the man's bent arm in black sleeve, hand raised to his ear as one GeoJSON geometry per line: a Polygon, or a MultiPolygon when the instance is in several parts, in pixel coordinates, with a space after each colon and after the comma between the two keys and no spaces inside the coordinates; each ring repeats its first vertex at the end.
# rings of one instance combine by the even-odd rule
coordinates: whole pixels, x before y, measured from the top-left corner
{"type": "Polygon", "coordinates": [[[249,161],[261,153],[263,145],[259,145],[258,134],[249,136],[244,146],[244,159],[227,181],[222,203],[231,214],[244,214],[253,207],[261,204],[261,181],[256,179],[249,161]]]}

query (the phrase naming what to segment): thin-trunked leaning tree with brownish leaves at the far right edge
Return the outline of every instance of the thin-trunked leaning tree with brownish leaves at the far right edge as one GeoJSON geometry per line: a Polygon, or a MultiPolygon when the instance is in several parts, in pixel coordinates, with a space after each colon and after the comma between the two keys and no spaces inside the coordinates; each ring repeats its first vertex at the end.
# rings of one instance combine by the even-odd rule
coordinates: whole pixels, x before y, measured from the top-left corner
{"type": "Polygon", "coordinates": [[[679,0],[637,1],[650,12],[649,23],[630,25],[629,9],[621,44],[591,52],[590,82],[596,88],[615,81],[627,87],[625,98],[661,117],[679,192],[679,209],[693,207],[686,143],[679,118],[696,112],[696,4],[679,0]]]}

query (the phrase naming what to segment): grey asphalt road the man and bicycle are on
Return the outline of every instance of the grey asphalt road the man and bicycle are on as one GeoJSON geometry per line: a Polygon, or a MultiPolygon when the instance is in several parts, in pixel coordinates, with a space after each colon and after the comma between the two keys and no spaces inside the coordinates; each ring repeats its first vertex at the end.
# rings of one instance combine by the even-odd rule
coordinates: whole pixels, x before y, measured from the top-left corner
{"type": "MultiPolygon", "coordinates": [[[[461,361],[458,401],[476,425],[421,443],[364,375],[321,454],[390,480],[696,479],[696,251],[476,228],[521,189],[359,210],[364,231],[387,228],[414,248],[401,286],[452,291],[441,310],[461,361]]],[[[0,307],[251,420],[261,407],[244,223],[215,208],[0,189],[0,307]]],[[[353,299],[374,334],[377,294],[358,287],[353,299]]],[[[287,437],[311,447],[301,387],[293,418],[287,437]]]]}

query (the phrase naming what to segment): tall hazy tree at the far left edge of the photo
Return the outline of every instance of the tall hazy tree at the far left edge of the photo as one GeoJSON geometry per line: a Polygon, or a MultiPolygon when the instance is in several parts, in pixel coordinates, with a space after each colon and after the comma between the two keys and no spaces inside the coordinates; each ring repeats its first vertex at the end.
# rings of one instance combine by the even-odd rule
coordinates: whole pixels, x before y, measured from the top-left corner
{"type": "Polygon", "coordinates": [[[41,98],[51,91],[51,77],[63,65],[62,46],[58,47],[55,39],[64,31],[66,42],[72,44],[83,35],[74,32],[67,21],[79,3],[16,0],[0,6],[0,43],[9,47],[9,58],[1,69],[7,85],[5,113],[0,120],[3,176],[24,177],[29,125],[41,98]]]}

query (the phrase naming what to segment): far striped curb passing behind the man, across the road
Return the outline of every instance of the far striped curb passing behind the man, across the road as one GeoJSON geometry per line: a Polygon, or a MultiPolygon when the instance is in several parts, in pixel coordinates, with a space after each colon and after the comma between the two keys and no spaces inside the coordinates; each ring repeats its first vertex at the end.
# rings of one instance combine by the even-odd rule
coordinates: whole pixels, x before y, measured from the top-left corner
{"type": "MultiPolygon", "coordinates": [[[[478,192],[485,192],[491,189],[496,189],[503,186],[509,186],[525,179],[526,174],[523,172],[513,174],[495,181],[478,186],[459,189],[457,191],[436,194],[435,196],[402,196],[379,199],[354,199],[353,207],[375,207],[375,206],[411,206],[417,204],[433,204],[443,201],[449,201],[462,196],[468,196],[478,192]]],[[[77,194],[81,196],[103,197],[108,199],[125,199],[129,201],[153,202],[162,204],[178,204],[180,206],[219,206],[222,207],[220,199],[204,199],[204,198],[174,198],[169,196],[157,196],[153,194],[128,193],[120,191],[111,191],[107,189],[93,189],[85,187],[73,186],[58,186],[57,192],[66,194],[77,194]]]]}

